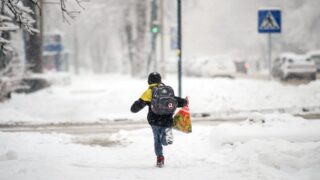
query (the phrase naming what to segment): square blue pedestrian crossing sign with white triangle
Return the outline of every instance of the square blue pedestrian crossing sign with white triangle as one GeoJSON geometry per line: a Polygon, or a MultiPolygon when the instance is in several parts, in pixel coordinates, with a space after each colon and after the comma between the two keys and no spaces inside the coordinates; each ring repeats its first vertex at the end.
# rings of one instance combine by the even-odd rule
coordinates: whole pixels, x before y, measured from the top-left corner
{"type": "Polygon", "coordinates": [[[278,9],[258,11],[259,33],[281,33],[281,11],[278,9]]]}

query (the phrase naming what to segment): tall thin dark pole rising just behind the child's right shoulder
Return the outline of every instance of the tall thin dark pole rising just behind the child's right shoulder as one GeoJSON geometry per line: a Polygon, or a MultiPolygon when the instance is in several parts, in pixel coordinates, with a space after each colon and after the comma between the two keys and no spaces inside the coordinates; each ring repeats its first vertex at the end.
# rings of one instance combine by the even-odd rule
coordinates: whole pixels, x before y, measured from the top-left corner
{"type": "Polygon", "coordinates": [[[179,90],[179,96],[182,96],[182,34],[181,34],[181,0],[178,0],[178,48],[177,48],[177,54],[178,54],[178,90],[179,90]]]}

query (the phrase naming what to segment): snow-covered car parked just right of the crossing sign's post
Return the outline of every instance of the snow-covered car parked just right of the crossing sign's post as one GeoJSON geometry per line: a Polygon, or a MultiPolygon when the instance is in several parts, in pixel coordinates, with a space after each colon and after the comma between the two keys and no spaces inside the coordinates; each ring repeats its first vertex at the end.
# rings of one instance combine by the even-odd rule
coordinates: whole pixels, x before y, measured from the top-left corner
{"type": "Polygon", "coordinates": [[[291,77],[315,80],[316,65],[307,55],[282,53],[272,63],[272,75],[281,80],[291,77]]]}

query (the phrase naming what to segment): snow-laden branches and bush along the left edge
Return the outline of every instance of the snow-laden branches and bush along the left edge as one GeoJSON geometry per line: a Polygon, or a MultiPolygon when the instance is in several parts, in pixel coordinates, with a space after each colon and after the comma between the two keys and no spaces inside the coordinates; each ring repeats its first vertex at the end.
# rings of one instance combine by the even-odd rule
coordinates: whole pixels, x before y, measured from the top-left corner
{"type": "MultiPolygon", "coordinates": [[[[35,6],[38,1],[30,0],[35,6]]],[[[33,10],[26,7],[22,0],[2,0],[0,3],[0,101],[10,98],[24,76],[25,68],[10,43],[12,32],[19,29],[33,34],[36,22],[33,10]]]]}

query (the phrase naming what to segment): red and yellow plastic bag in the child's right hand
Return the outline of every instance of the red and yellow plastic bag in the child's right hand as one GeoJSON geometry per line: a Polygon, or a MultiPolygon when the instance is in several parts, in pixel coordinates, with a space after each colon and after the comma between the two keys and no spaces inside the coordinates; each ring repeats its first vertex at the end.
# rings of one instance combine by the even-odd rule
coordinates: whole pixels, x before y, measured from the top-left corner
{"type": "Polygon", "coordinates": [[[184,133],[192,132],[189,106],[186,105],[173,116],[173,129],[184,133]]]}

